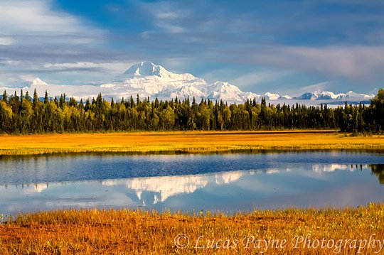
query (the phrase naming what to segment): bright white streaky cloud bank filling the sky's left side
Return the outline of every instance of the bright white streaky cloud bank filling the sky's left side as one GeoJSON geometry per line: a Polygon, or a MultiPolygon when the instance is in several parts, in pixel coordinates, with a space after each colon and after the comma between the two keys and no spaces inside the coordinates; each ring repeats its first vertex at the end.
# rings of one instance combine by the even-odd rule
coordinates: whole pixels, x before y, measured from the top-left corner
{"type": "Polygon", "coordinates": [[[105,38],[105,31],[58,9],[53,0],[0,0],[0,78],[6,85],[18,75],[62,82],[82,77],[85,83],[94,72],[92,79],[101,80],[122,69],[108,60],[117,53],[101,50],[105,38]]]}

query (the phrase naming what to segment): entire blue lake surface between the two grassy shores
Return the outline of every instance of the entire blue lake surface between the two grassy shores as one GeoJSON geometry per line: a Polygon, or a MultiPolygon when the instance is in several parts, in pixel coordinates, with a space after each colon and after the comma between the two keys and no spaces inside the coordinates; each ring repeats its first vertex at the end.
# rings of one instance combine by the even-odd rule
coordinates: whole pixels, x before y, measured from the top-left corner
{"type": "Polygon", "coordinates": [[[380,183],[380,151],[1,157],[0,213],[357,206],[383,202],[380,183]]]}

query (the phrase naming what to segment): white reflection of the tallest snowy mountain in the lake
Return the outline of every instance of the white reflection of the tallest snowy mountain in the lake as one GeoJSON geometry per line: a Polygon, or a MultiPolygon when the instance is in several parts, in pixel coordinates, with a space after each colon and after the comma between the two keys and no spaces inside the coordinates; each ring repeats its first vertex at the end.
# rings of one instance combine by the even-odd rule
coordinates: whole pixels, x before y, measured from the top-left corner
{"type": "Polygon", "coordinates": [[[135,190],[137,198],[142,200],[143,192],[153,192],[154,204],[164,202],[167,198],[182,193],[192,193],[208,184],[223,185],[232,183],[244,175],[244,171],[234,171],[203,175],[176,175],[125,180],[103,180],[102,185],[124,185],[135,190]]]}

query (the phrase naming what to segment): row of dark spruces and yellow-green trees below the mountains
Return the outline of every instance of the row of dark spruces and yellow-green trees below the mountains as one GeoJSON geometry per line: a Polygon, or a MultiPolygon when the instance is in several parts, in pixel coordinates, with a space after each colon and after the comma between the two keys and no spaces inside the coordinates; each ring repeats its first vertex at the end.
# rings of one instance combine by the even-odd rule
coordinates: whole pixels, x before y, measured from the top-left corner
{"type": "Polygon", "coordinates": [[[383,131],[384,89],[370,106],[271,105],[256,99],[244,104],[227,104],[195,99],[159,101],[149,98],[96,99],[77,102],[65,94],[40,100],[36,91],[0,99],[0,133],[62,133],[95,131],[159,130],[272,130],[340,129],[341,131],[383,131]]]}

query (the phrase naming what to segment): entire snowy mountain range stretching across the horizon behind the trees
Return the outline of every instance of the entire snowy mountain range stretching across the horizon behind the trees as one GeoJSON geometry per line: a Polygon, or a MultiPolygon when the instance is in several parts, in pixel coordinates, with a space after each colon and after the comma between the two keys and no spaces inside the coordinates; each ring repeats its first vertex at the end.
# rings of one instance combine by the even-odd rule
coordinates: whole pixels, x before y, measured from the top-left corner
{"type": "Polygon", "coordinates": [[[9,94],[17,92],[23,88],[29,93],[33,93],[36,89],[40,97],[43,96],[46,89],[50,97],[58,96],[62,93],[76,99],[96,97],[100,92],[104,97],[121,99],[122,97],[150,97],[151,99],[185,99],[193,97],[196,100],[211,99],[223,100],[226,102],[244,102],[247,99],[261,99],[265,97],[268,101],[276,102],[369,102],[373,98],[373,94],[358,94],[356,92],[338,93],[327,91],[306,92],[299,97],[291,97],[267,92],[265,94],[256,94],[254,92],[242,92],[241,89],[229,82],[213,82],[208,83],[199,77],[194,77],[190,73],[176,74],[169,72],[161,65],[154,65],[151,62],[141,62],[132,65],[122,75],[118,75],[110,83],[102,85],[53,85],[36,78],[29,82],[21,82],[16,87],[2,87],[1,91],[7,90],[9,94]]]}

